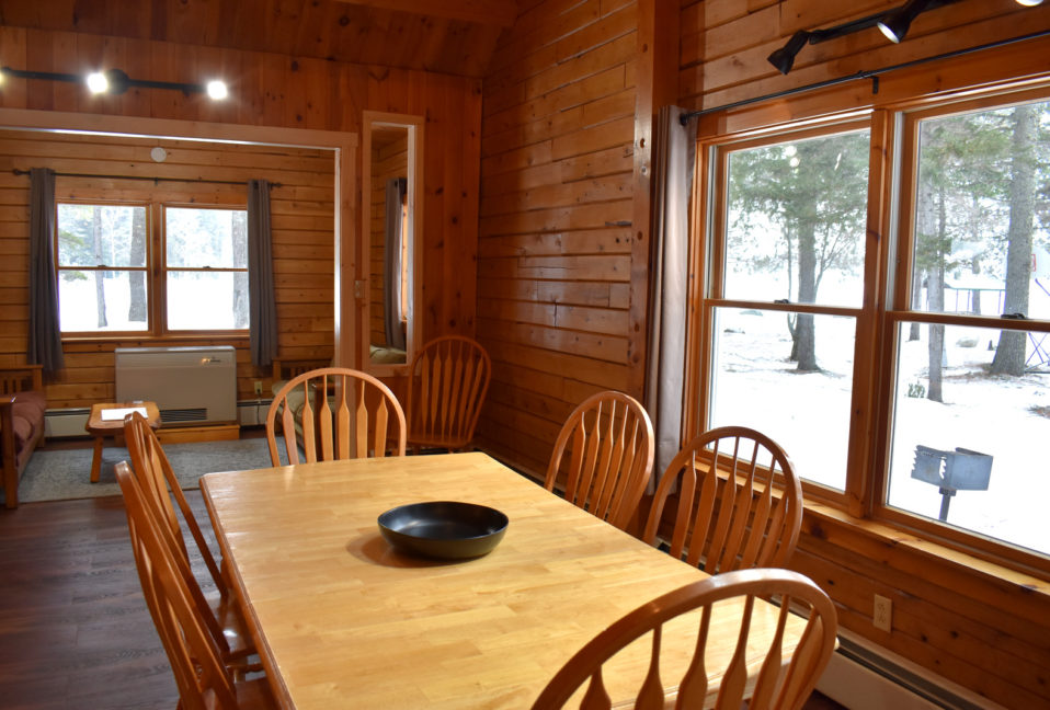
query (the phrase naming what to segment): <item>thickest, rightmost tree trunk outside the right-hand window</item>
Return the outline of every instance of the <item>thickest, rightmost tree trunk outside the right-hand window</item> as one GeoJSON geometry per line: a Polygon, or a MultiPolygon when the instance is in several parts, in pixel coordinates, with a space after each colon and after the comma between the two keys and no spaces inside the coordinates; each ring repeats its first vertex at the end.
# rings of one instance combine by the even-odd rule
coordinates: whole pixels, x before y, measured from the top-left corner
{"type": "MultiPolygon", "coordinates": [[[[1028,314],[1028,288],[1031,279],[1031,232],[1036,211],[1036,159],[1032,149],[1036,112],[1031,106],[1014,108],[1014,136],[1011,141],[1009,228],[1006,248],[1005,312],[1028,314]]],[[[1001,331],[993,375],[1025,374],[1023,331],[1001,331]]]]}

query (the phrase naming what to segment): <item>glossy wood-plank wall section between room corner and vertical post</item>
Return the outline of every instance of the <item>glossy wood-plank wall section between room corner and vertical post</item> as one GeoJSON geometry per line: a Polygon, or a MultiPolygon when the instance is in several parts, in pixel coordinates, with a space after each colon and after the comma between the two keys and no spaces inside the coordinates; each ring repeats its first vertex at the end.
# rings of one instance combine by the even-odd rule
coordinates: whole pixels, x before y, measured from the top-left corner
{"type": "Polygon", "coordinates": [[[532,470],[579,402],[629,388],[636,33],[630,1],[534,2],[484,80],[479,438],[532,470]]]}

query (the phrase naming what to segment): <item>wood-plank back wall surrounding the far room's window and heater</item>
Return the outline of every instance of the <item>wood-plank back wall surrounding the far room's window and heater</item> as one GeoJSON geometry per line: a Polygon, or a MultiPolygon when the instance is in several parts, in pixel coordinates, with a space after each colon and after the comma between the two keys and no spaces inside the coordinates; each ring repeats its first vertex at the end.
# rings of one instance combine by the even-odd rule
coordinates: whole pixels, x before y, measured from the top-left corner
{"type": "MultiPolygon", "coordinates": [[[[271,190],[273,272],[281,355],[331,358],[334,328],[333,184],[331,151],[274,146],[241,146],[187,140],[0,131],[0,362],[25,357],[28,332],[30,181],[13,169],[50,168],[59,173],[185,178],[185,182],[57,176],[58,201],[128,201],[170,205],[244,208],[247,185],[194,182],[195,178],[279,183],[271,190]],[[168,151],[162,163],[150,149],[168,151]]],[[[114,397],[114,347],[191,345],[199,340],[91,340],[65,344],[66,367],[47,385],[48,406],[89,406],[114,397]]],[[[269,379],[255,368],[247,335],[207,339],[237,347],[239,398],[254,397],[253,380],[269,379]]],[[[269,385],[267,389],[269,391],[269,385]]]]}

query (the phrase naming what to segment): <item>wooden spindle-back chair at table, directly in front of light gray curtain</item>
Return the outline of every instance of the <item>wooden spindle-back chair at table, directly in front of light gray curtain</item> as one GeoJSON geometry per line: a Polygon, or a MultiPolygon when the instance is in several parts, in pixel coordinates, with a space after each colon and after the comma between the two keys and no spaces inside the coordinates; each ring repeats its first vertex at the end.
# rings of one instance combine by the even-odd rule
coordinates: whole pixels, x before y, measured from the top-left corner
{"type": "Polygon", "coordinates": [[[623,392],[598,392],[566,420],[544,485],[553,491],[563,470],[567,501],[627,529],[652,476],[654,454],[646,409],[623,392]]]}

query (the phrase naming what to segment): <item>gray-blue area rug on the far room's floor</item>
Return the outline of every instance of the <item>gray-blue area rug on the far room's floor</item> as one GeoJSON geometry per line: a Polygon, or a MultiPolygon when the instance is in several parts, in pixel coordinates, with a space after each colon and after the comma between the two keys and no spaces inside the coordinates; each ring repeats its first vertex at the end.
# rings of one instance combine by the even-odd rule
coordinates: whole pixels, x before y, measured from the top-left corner
{"type": "MultiPolygon", "coordinates": [[[[19,485],[19,501],[65,501],[70,499],[119,495],[114,467],[128,460],[127,449],[109,446],[102,449],[102,472],[91,483],[91,448],[38,450],[30,459],[19,485]]],[[[238,471],[270,468],[266,439],[244,438],[235,442],[194,442],[166,444],[164,454],[183,489],[198,488],[197,479],[213,471],[238,471]]],[[[282,460],[284,451],[282,447],[282,460]]]]}

